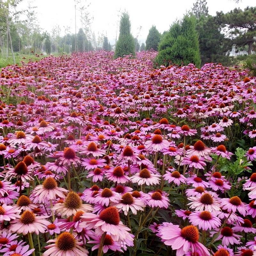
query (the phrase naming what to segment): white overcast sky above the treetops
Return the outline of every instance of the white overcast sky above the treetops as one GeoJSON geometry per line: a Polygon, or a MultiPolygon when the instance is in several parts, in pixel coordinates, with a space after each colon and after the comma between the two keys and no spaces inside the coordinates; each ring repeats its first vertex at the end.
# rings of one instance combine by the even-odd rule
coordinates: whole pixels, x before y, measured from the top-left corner
{"type": "MultiPolygon", "coordinates": [[[[75,33],[75,7],[74,0],[24,0],[22,8],[28,6],[31,2],[32,6],[37,6],[37,19],[40,27],[51,33],[54,25],[60,25],[64,35],[64,26],[70,27],[70,32],[75,33]]],[[[116,38],[116,28],[118,13],[128,11],[132,24],[132,35],[138,41],[145,42],[148,30],[155,25],[160,33],[169,29],[169,26],[176,19],[182,18],[186,11],[193,6],[193,0],[81,0],[82,4],[91,3],[88,10],[92,14],[94,20],[92,30],[95,36],[98,33],[104,33],[113,44],[116,38]],[[141,30],[139,33],[139,28],[141,30]]],[[[234,8],[244,9],[246,6],[255,6],[256,0],[242,0],[238,4],[234,0],[208,0],[209,14],[215,15],[217,11],[228,12],[234,8]]],[[[76,18],[77,32],[81,27],[79,13],[76,18]]],[[[118,30],[119,31],[119,30],[118,30]]],[[[117,37],[118,37],[117,31],[117,37]]]]}

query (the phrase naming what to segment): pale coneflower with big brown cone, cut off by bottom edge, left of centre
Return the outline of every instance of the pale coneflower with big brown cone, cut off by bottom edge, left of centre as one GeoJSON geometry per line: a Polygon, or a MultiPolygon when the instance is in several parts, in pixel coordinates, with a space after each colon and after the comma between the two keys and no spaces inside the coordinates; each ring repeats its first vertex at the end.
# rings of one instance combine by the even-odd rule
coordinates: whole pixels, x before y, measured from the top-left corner
{"type": "Polygon", "coordinates": [[[47,249],[43,256],[87,256],[89,252],[83,248],[83,242],[79,242],[73,234],[69,232],[61,233],[56,239],[51,239],[47,243],[53,243],[46,245],[47,249]]]}

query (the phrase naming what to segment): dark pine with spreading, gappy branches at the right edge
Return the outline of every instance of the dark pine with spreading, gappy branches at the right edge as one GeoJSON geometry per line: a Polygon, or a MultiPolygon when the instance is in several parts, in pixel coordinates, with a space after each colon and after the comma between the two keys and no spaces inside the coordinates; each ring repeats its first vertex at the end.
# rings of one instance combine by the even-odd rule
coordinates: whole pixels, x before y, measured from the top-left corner
{"type": "Polygon", "coordinates": [[[244,11],[235,8],[226,14],[217,12],[217,19],[223,27],[229,28],[233,43],[248,45],[248,54],[252,54],[256,42],[256,7],[246,7],[244,11]]]}

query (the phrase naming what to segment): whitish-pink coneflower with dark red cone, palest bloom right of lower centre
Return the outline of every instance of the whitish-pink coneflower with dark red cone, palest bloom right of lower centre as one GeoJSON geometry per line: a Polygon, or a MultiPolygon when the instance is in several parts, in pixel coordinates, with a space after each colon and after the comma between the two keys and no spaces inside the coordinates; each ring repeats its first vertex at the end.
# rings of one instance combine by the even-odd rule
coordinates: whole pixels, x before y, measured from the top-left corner
{"type": "Polygon", "coordinates": [[[159,174],[154,174],[150,173],[147,168],[142,169],[139,173],[135,173],[131,177],[132,183],[138,183],[138,185],[156,185],[159,184],[160,181],[160,175],[159,174]]]}

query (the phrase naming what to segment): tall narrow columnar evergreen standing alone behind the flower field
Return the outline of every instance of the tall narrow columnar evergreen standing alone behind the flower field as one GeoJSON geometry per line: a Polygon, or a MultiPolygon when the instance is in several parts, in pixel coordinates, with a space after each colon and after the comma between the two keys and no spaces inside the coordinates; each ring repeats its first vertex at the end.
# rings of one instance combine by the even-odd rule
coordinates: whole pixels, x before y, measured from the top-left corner
{"type": "Polygon", "coordinates": [[[116,42],[114,58],[132,54],[135,56],[134,39],[131,34],[131,22],[127,12],[122,13],[119,27],[119,37],[116,42]]]}

